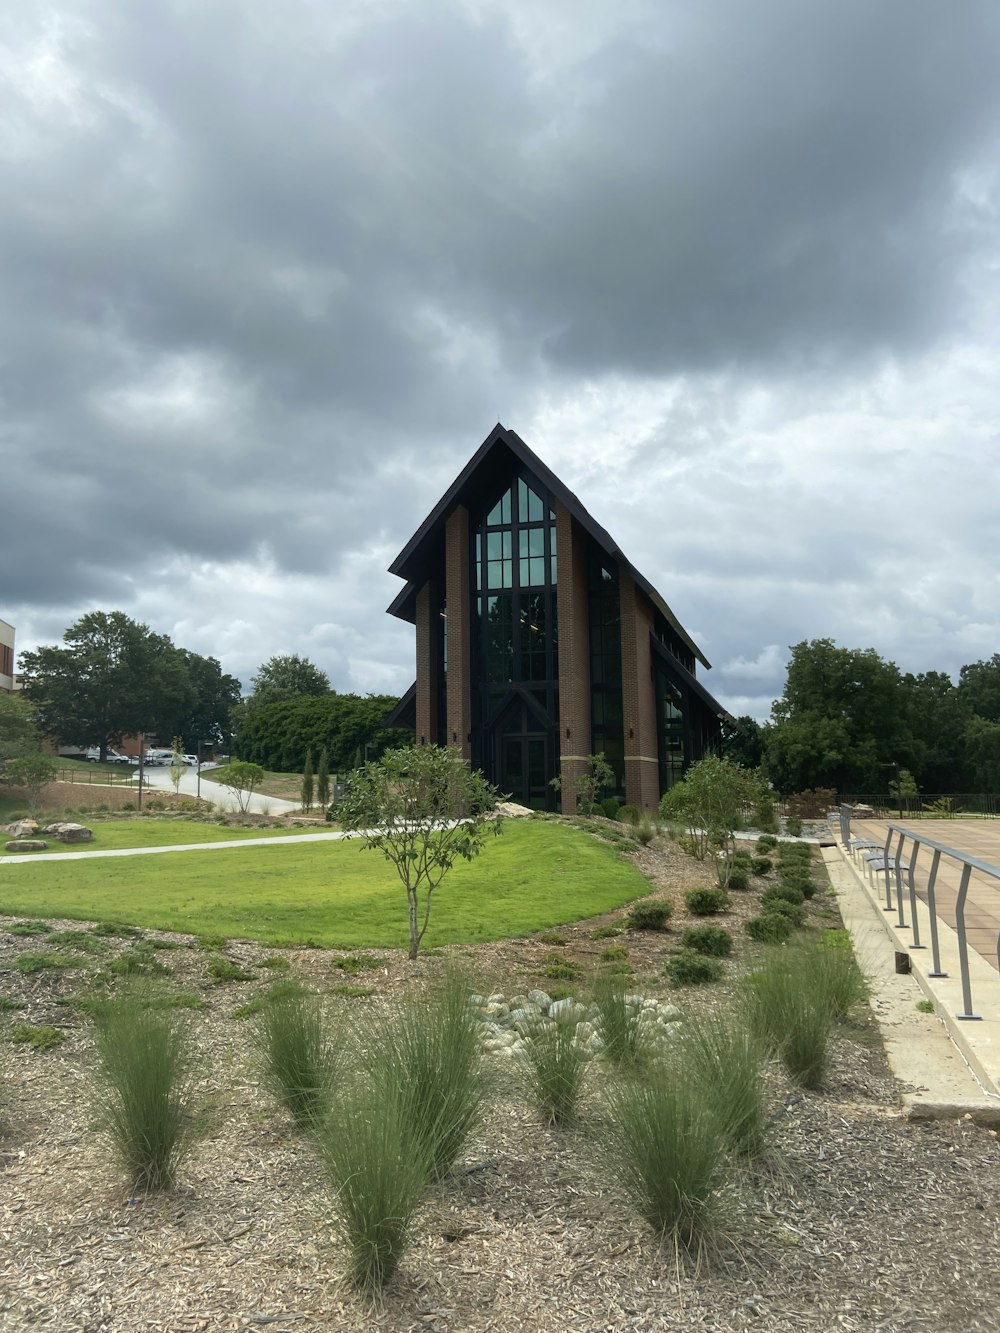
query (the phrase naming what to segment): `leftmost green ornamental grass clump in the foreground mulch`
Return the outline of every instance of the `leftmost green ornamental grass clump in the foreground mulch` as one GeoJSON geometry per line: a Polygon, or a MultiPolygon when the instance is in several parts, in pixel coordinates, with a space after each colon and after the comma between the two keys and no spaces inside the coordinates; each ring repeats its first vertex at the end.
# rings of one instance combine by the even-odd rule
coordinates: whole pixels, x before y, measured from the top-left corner
{"type": "Polygon", "coordinates": [[[101,1005],[95,1022],[103,1126],[135,1189],[167,1189],[197,1128],[188,1028],[139,992],[101,1005]]]}

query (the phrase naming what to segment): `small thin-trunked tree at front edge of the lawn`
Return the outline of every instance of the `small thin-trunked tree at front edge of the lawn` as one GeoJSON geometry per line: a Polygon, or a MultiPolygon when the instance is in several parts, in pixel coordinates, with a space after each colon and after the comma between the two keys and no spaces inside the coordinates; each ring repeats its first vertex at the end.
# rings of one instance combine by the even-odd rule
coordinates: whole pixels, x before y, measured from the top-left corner
{"type": "Polygon", "coordinates": [[[433,890],[457,860],[475,860],[500,832],[497,796],[459,753],[437,745],[387,750],[352,774],[337,821],[396,868],[407,890],[411,958],[431,920],[433,890]]]}

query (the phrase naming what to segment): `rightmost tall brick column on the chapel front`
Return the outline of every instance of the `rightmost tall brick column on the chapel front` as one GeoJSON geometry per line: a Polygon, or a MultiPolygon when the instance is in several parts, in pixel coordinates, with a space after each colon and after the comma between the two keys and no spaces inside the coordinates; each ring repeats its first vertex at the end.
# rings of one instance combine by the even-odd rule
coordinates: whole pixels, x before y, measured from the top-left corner
{"type": "Polygon", "coordinates": [[[624,569],[621,595],[621,710],[625,729],[625,800],[652,810],[660,800],[649,631],[652,608],[624,569]]]}

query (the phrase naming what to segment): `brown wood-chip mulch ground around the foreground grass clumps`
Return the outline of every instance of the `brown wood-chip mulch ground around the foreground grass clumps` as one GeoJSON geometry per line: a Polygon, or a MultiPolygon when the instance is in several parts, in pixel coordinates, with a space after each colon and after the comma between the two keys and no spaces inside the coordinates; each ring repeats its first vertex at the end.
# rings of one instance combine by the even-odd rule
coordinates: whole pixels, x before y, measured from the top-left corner
{"type": "MultiPolygon", "coordinates": [[[[604,948],[623,945],[637,988],[668,994],[663,961],[691,920],[683,892],[707,874],[660,840],[635,854],[653,893],[676,905],[668,932],[593,940],[596,926],[621,924],[623,913],[612,913],[560,928],[563,945],[533,937],[455,952],[469,956],[484,989],[513,993],[545,986],[539,972],[553,954],[591,972],[604,948]]],[[[681,1008],[731,998],[759,957],[740,928],[755,897],[733,894],[731,912],[716,918],[737,940],[725,980],[673,992],[681,1008]]],[[[817,896],[811,917],[817,929],[836,926],[835,901],[817,896]]],[[[11,934],[12,924],[0,920],[0,994],[25,1008],[3,1017],[8,1026],[53,1024],[65,1041],[47,1052],[0,1045],[3,1329],[997,1328],[996,1134],[969,1122],[904,1120],[901,1089],[865,1013],[844,1028],[821,1093],[803,1093],[773,1072],[775,1156],[733,1188],[728,1236],[700,1268],[657,1242],[601,1165],[603,1066],[592,1068],[580,1126],[557,1132],[537,1122],[507,1064],[487,1125],[429,1200],[383,1304],[367,1308],[339,1277],[343,1253],[323,1174],[259,1088],[252,1025],[233,1010],[291,974],[323,992],[373,986],[371,997],[331,997],[331,1006],[356,1013],[431,974],[441,956],[411,965],[399,950],[367,950],[375,966],[352,976],[336,965],[343,953],[233,941],[235,962],[253,969],[281,952],[291,973],[260,968],[259,980],[211,985],[207,954],[173,937],[184,946],[157,956],[172,969],[164,984],[208,1002],[191,1021],[200,1092],[213,1113],[177,1189],[133,1197],[93,1124],[88,1020],[65,1004],[107,957],[81,954],[79,970],[23,976],[12,960],[44,949],[44,937],[11,934]]],[[[108,942],[112,956],[129,948],[108,942]]]]}

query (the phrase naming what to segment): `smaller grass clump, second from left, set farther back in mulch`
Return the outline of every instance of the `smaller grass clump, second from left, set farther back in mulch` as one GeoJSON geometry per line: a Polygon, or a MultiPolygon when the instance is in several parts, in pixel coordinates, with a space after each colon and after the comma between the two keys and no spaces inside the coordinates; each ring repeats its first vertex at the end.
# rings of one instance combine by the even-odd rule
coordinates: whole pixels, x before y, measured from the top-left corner
{"type": "Polygon", "coordinates": [[[281,993],[257,1020],[265,1085],[297,1129],[309,1132],[329,1113],[343,1065],[343,1042],[313,996],[281,993]]]}

